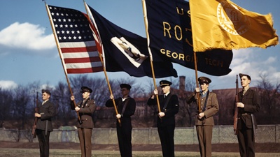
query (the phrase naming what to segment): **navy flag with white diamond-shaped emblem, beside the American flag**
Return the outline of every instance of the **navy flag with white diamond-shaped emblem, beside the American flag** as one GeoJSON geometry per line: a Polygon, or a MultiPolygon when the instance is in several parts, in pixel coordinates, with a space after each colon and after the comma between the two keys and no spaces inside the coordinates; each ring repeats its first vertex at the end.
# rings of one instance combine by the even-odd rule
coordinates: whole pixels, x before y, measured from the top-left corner
{"type": "MultiPolygon", "coordinates": [[[[125,71],[134,77],[153,77],[147,39],[118,27],[90,6],[88,8],[96,36],[101,40],[106,71],[125,71]]],[[[169,59],[156,59],[153,69],[157,78],[178,77],[169,59]]]]}

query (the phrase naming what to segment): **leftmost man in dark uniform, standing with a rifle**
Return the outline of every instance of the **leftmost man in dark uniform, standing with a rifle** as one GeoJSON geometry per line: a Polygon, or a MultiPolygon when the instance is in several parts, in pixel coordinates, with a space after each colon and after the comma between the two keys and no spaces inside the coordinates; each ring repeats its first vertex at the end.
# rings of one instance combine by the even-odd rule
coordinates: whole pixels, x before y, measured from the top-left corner
{"type": "Polygon", "coordinates": [[[40,157],[48,157],[50,151],[50,132],[52,131],[52,117],[55,115],[55,106],[50,102],[50,91],[42,89],[43,103],[38,105],[36,135],[40,147],[40,157]]]}

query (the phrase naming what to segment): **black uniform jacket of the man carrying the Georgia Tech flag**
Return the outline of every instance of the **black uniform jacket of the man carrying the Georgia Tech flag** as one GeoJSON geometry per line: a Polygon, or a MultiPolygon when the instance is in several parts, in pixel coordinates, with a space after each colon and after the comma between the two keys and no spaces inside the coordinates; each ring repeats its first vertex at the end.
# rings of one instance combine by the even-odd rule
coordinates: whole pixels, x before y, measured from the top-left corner
{"type": "MultiPolygon", "coordinates": [[[[158,117],[158,127],[160,126],[169,126],[175,125],[175,114],[179,112],[179,100],[178,96],[169,93],[166,98],[163,95],[158,96],[160,101],[160,110],[161,112],[165,112],[164,117],[158,117]],[[167,106],[165,107],[165,102],[167,98],[170,97],[167,106]]],[[[156,98],[149,98],[148,105],[158,105],[156,98]]]]}

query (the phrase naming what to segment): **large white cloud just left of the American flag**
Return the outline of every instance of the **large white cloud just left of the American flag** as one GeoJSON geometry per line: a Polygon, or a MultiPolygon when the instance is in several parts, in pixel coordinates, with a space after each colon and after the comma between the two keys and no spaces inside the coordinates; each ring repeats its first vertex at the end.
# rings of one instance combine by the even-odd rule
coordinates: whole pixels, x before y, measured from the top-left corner
{"type": "Polygon", "coordinates": [[[55,47],[55,39],[52,34],[44,33],[45,29],[39,25],[15,22],[0,31],[0,44],[27,50],[50,50],[55,47]]]}

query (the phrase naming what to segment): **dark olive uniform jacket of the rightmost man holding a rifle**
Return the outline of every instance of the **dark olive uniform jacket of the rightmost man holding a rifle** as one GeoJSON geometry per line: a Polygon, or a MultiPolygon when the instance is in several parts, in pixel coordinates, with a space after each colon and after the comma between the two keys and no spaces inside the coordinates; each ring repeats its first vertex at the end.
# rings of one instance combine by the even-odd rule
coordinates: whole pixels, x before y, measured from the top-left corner
{"type": "Polygon", "coordinates": [[[253,128],[251,114],[260,110],[260,97],[258,96],[258,93],[249,88],[243,96],[242,91],[240,91],[238,94],[238,100],[239,102],[244,103],[244,108],[239,107],[238,114],[240,119],[237,121],[237,127],[240,129],[241,125],[239,125],[239,123],[244,121],[247,128],[253,128]]]}

